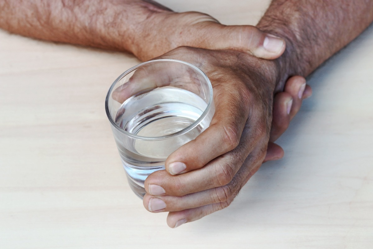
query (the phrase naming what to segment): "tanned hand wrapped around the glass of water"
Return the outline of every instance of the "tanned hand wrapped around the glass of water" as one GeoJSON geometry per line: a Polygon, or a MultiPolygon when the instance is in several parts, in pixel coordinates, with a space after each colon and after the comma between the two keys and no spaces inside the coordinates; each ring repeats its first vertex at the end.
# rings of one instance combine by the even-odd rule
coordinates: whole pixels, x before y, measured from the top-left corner
{"type": "MultiPolygon", "coordinates": [[[[145,208],[169,211],[167,224],[175,227],[228,206],[262,164],[270,138],[277,72],[271,61],[234,50],[182,47],[162,58],[201,68],[211,80],[216,105],[210,127],[173,152],[166,170],[145,180],[145,208]]],[[[287,94],[298,96],[298,92],[287,94]]],[[[286,99],[287,94],[279,99],[286,99]]],[[[300,102],[293,100],[293,113],[300,102]]],[[[273,136],[282,128],[278,125],[273,136]]]]}

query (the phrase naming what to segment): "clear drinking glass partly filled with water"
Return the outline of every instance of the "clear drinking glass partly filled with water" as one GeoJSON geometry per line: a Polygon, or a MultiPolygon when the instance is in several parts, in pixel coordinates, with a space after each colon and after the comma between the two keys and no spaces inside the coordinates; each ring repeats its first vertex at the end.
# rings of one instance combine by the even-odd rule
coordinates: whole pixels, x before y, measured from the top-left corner
{"type": "Polygon", "coordinates": [[[142,198],[147,176],[164,169],[173,151],[209,126],[213,90],[209,78],[194,65],[151,60],[114,81],[105,109],[129,185],[142,198]]]}

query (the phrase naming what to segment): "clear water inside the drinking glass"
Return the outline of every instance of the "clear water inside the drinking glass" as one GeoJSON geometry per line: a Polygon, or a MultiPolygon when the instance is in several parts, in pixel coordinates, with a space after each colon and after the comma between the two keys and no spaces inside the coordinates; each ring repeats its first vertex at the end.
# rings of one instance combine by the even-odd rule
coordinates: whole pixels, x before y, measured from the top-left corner
{"type": "MultiPolygon", "coordinates": [[[[160,137],[176,133],[191,125],[206,109],[207,103],[198,95],[175,87],[160,87],[137,94],[119,108],[115,122],[129,133],[160,137]]],[[[210,123],[203,119],[195,128],[181,136],[165,140],[117,141],[118,150],[132,190],[145,194],[145,178],[164,169],[167,156],[181,145],[193,140],[210,123]]]]}

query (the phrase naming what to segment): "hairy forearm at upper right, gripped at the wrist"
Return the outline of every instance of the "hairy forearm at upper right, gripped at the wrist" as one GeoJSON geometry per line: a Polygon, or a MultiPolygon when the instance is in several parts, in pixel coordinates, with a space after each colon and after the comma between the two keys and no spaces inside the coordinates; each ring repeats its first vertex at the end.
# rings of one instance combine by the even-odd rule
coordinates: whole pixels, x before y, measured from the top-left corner
{"type": "Polygon", "coordinates": [[[309,75],[372,21],[372,0],[273,0],[257,27],[286,40],[276,90],[291,75],[309,75]]]}

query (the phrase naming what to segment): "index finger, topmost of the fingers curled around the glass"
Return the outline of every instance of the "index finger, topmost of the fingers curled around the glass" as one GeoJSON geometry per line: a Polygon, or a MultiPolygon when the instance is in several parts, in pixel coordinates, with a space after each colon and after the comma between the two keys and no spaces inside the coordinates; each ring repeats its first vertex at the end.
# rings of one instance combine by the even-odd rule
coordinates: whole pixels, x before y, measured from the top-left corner
{"type": "Polygon", "coordinates": [[[165,162],[166,171],[170,174],[201,168],[239,144],[248,118],[248,105],[242,104],[246,97],[234,87],[229,91],[214,88],[214,95],[216,106],[210,127],[170,154],[165,162]],[[224,94],[219,94],[219,90],[224,94]]]}

